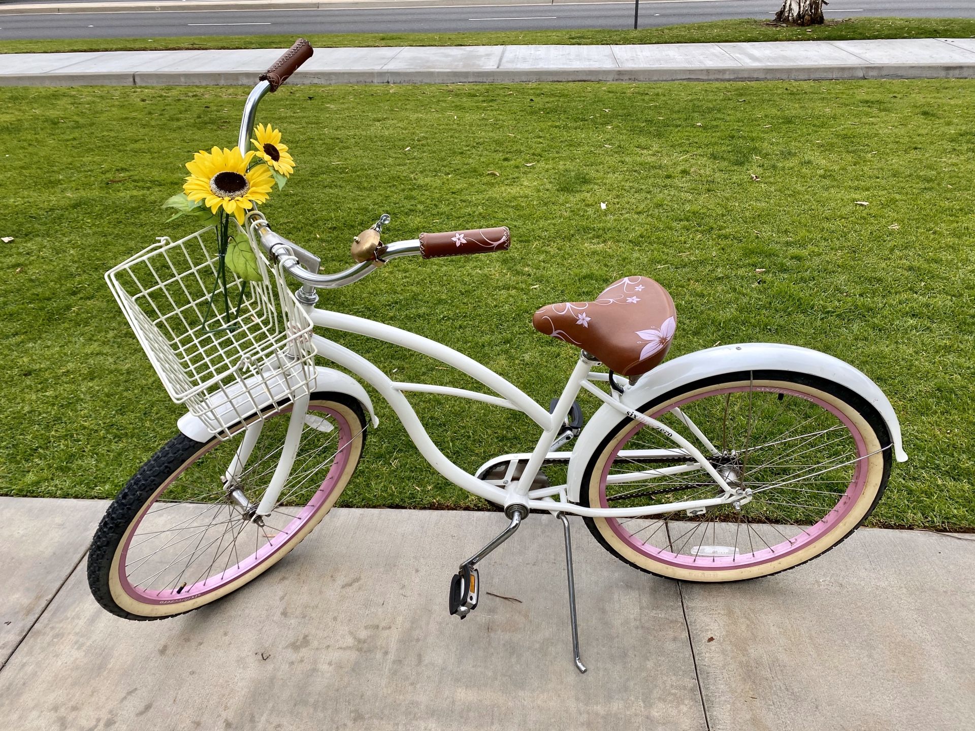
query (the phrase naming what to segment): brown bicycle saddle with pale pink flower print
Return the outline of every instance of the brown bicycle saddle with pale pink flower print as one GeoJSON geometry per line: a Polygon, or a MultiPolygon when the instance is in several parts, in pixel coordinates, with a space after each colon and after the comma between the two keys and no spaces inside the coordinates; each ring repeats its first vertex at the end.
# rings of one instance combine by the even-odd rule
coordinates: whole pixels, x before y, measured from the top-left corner
{"type": "Polygon", "coordinates": [[[667,290],[649,277],[624,277],[592,302],[542,307],[531,324],[582,348],[620,375],[636,376],[667,356],[677,310],[667,290]]]}

